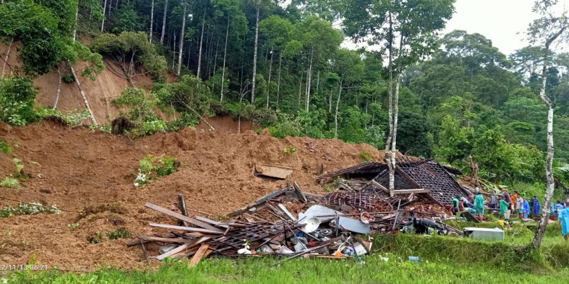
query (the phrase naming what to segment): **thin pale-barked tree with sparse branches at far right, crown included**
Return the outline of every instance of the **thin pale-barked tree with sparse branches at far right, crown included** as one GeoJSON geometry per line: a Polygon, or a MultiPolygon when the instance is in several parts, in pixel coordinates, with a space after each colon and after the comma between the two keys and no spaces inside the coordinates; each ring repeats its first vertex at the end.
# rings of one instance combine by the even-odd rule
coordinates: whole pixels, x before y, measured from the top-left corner
{"type": "Polygon", "coordinates": [[[550,61],[550,49],[555,43],[567,43],[569,41],[569,19],[567,10],[560,15],[556,15],[554,7],[558,0],[537,0],[533,7],[533,12],[540,15],[530,23],[528,28],[528,38],[530,43],[543,46],[543,68],[541,69],[541,88],[539,97],[541,101],[548,107],[548,124],[547,124],[547,159],[546,159],[546,197],[543,201],[543,209],[541,210],[541,218],[539,219],[539,229],[535,233],[532,240],[533,247],[539,247],[543,234],[549,220],[549,210],[553,199],[553,190],[555,189],[555,181],[553,179],[553,110],[555,103],[546,94],[546,84],[548,78],[548,62],[550,61]]]}

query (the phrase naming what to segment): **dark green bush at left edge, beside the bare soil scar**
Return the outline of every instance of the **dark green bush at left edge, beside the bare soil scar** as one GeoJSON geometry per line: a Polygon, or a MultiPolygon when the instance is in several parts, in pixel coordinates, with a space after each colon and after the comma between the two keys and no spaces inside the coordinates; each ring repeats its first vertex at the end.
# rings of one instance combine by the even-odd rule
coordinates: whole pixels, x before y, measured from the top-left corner
{"type": "Polygon", "coordinates": [[[38,88],[27,78],[0,79],[0,120],[14,126],[37,119],[34,100],[38,88]]]}

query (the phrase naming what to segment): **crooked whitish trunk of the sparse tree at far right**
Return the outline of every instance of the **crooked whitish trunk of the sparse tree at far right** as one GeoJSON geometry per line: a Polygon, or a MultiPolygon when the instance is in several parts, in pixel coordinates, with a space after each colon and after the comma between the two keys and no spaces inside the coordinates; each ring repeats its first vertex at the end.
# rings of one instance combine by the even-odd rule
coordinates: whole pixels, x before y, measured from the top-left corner
{"type": "Polygon", "coordinates": [[[539,97],[541,101],[548,106],[548,124],[547,124],[547,160],[546,160],[546,197],[543,201],[543,208],[541,209],[541,218],[539,219],[539,228],[535,232],[535,236],[532,240],[533,247],[539,247],[541,245],[541,240],[543,239],[543,234],[546,232],[546,227],[549,220],[549,211],[551,209],[551,201],[553,199],[553,190],[555,189],[555,181],[553,179],[553,108],[554,105],[551,100],[546,95],[546,83],[547,83],[547,62],[549,56],[549,44],[546,43],[545,56],[543,60],[543,70],[541,71],[541,88],[539,90],[539,97]]]}

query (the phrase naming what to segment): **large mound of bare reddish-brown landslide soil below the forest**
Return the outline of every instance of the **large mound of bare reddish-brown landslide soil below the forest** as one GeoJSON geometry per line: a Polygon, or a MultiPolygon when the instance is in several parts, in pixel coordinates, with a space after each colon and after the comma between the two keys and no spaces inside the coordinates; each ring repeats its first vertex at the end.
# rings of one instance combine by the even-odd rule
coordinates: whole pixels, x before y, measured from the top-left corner
{"type": "MultiPolygon", "coordinates": [[[[321,165],[326,172],[355,165],[362,161],[359,152],[363,150],[376,161],[383,159],[383,152],[367,144],[306,137],[279,140],[267,131],[258,135],[252,130],[231,134],[187,128],[132,141],[47,121],[12,128],[3,140],[17,141],[19,147],[10,155],[0,154],[0,177],[14,172],[12,159],[17,157],[32,178],[21,181],[19,189],[1,188],[0,207],[16,206],[18,201],[41,202],[55,204],[63,211],[1,219],[0,243],[6,245],[0,249],[0,263],[25,264],[34,254],[40,263],[59,265],[63,270],[95,270],[107,265],[146,267],[140,248],[126,247],[134,239],[110,240],[104,236],[106,232],[123,226],[133,234],[165,232],[148,223],[172,220],[144,207],[144,203],[172,209],[178,193],[186,196],[190,210],[218,219],[285,186],[285,181],[255,177],[256,163],[293,168],[290,179],[298,181],[303,190],[323,193],[325,190],[315,182],[321,165]],[[307,147],[309,141],[316,152],[307,147]],[[297,151],[283,152],[291,146],[297,151]],[[163,153],[181,161],[179,171],[150,185],[134,187],[139,160],[163,153]],[[74,223],[79,227],[74,228],[74,223]],[[104,241],[88,242],[90,237],[97,239],[99,233],[104,241]]],[[[157,247],[149,246],[149,250],[157,251],[157,247]]],[[[158,267],[159,262],[152,261],[151,265],[158,267]]]]}

